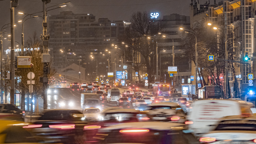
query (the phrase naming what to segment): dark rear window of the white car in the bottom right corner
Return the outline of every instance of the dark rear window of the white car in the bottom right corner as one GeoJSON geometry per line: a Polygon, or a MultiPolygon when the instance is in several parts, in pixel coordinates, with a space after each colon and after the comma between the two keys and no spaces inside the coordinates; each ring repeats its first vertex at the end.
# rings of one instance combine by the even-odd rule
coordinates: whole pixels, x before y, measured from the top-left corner
{"type": "Polygon", "coordinates": [[[256,130],[256,121],[230,120],[222,121],[215,130],[256,130]]]}

